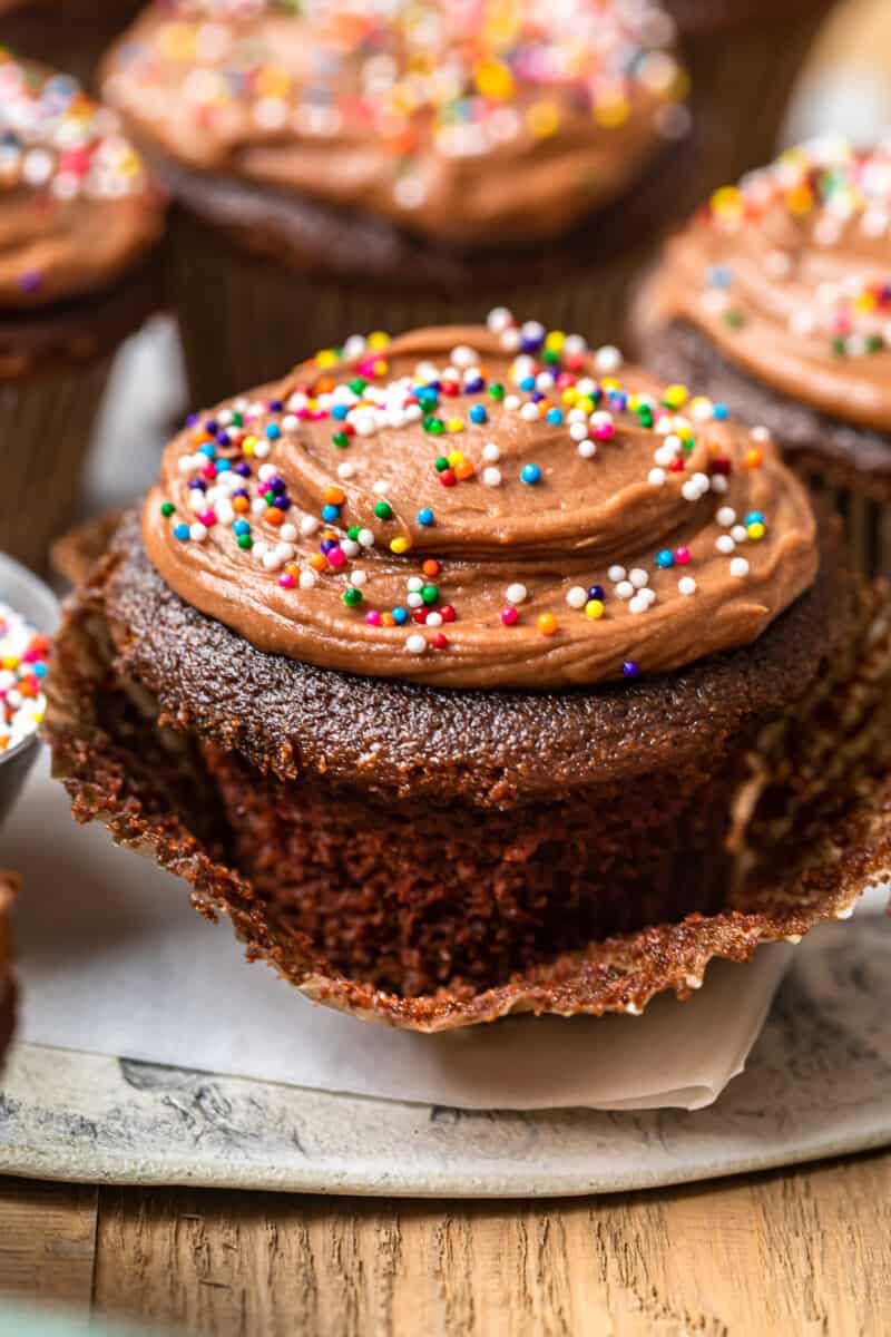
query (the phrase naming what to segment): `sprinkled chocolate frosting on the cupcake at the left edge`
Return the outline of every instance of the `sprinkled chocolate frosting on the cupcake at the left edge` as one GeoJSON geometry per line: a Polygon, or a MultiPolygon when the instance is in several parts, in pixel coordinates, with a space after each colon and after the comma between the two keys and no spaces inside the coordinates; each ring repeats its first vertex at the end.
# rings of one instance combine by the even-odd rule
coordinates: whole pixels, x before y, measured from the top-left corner
{"type": "Polygon", "coordinates": [[[115,112],[68,75],[0,47],[0,308],[106,286],[162,226],[158,193],[115,112]]]}

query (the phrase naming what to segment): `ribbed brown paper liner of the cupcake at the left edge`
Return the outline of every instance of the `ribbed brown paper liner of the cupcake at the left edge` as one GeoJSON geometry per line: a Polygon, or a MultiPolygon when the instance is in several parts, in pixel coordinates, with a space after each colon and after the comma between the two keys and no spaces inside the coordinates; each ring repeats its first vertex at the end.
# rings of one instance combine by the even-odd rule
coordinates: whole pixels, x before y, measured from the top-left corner
{"type": "Polygon", "coordinates": [[[45,566],[71,520],[112,357],[0,381],[0,550],[45,566]]]}

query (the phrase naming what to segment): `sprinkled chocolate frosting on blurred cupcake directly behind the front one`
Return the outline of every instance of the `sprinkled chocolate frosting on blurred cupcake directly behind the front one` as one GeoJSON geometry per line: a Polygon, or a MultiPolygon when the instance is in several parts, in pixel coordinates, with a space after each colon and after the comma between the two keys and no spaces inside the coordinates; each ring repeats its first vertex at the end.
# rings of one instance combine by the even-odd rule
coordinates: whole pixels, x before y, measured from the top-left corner
{"type": "Polygon", "coordinates": [[[568,229],[685,132],[672,37],[653,0],[180,0],[106,94],[190,168],[498,245],[568,229]]]}

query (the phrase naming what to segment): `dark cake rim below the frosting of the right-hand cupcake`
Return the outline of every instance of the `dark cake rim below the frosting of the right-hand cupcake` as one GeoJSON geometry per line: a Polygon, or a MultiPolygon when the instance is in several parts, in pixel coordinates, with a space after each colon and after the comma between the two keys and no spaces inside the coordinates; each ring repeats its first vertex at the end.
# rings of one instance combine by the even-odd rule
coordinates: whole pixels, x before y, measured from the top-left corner
{"type": "Polygon", "coordinates": [[[687,321],[639,330],[644,364],[667,381],[696,385],[735,418],[767,427],[791,465],[808,476],[891,501],[891,440],[781,394],[735,366],[687,321]]]}

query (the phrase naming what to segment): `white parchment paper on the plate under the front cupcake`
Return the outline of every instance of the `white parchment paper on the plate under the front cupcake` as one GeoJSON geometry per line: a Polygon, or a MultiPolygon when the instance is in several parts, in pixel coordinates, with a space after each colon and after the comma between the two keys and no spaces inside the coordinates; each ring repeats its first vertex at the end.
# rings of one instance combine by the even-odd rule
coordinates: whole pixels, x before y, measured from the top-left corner
{"type": "Polygon", "coordinates": [[[460,1108],[711,1104],[741,1072],[792,951],[716,963],[643,1017],[516,1017],[439,1036],[314,1007],[248,965],[184,882],[79,828],[45,755],[0,830],[23,878],[21,1039],[234,1076],[460,1108]]]}

